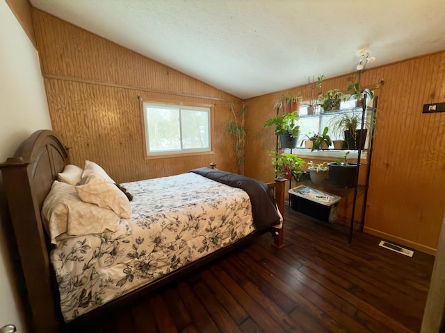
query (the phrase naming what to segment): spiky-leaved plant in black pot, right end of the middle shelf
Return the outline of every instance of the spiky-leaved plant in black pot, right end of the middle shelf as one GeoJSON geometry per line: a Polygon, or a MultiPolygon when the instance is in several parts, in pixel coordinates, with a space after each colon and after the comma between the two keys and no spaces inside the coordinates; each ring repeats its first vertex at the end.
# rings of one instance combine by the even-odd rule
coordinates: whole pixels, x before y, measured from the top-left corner
{"type": "MultiPolygon", "coordinates": [[[[356,112],[345,112],[342,114],[337,114],[330,121],[330,126],[334,128],[334,133],[343,134],[348,149],[360,149],[364,148],[366,141],[366,135],[368,130],[366,128],[362,130],[357,129],[362,124],[362,114],[356,112]],[[357,144],[359,137],[362,136],[361,144],[357,144]]],[[[365,121],[366,126],[369,126],[369,122],[365,121]]]]}

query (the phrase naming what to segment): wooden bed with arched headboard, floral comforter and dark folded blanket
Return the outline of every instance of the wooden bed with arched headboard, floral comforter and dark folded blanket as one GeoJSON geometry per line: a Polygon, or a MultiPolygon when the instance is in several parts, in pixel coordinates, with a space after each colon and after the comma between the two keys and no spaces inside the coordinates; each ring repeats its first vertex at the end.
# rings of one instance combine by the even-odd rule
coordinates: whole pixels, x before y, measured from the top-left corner
{"type": "MultiPolygon", "coordinates": [[[[91,165],[87,162],[83,171],[91,165]]],[[[209,168],[125,183],[122,186],[133,197],[129,206],[127,201],[119,201],[124,203],[118,208],[107,206],[102,199],[101,203],[96,199],[88,202],[118,216],[112,226],[95,229],[88,223],[92,229],[76,225],[72,227],[76,232],[67,232],[66,223],[61,230],[49,227],[49,202],[61,198],[55,188],[67,193],[75,188],[58,177],[67,165],[72,165],[67,149],[51,130],[33,133],[15,157],[0,164],[29,293],[33,332],[58,332],[62,326],[81,325],[265,232],[272,232],[273,246],[284,246],[280,223],[284,181],[266,186],[209,168]],[[266,196],[256,198],[263,191],[266,196]],[[267,210],[270,203],[275,212],[267,210]]],[[[81,187],[95,185],[92,181],[79,184],[76,180],[78,194],[81,187]]],[[[108,223],[108,216],[104,221],[108,223]]]]}

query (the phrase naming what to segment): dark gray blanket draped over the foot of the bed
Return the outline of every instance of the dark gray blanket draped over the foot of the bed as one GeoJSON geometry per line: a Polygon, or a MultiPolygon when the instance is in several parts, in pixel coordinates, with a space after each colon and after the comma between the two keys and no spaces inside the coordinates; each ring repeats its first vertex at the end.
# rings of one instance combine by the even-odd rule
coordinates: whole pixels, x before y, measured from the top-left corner
{"type": "Polygon", "coordinates": [[[264,184],[264,182],[237,175],[236,173],[209,168],[193,169],[190,172],[246,191],[252,205],[255,228],[261,229],[280,224],[280,216],[277,213],[273,189],[264,184]]]}

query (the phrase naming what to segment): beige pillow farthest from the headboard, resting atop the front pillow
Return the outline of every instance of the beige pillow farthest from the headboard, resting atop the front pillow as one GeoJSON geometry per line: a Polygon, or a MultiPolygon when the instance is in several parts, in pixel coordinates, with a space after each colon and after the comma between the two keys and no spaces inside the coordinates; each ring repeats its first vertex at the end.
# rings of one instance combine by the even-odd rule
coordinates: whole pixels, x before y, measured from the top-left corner
{"type": "Polygon", "coordinates": [[[111,182],[88,182],[76,186],[76,191],[79,198],[86,203],[94,203],[99,207],[113,210],[122,219],[131,218],[131,204],[127,196],[111,182]]]}

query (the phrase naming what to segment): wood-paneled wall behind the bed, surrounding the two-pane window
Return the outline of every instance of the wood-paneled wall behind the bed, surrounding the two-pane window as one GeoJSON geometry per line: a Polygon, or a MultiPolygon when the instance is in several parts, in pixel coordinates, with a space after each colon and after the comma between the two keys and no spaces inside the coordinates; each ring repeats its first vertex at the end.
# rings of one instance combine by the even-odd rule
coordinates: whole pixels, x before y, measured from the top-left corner
{"type": "Polygon", "coordinates": [[[236,172],[225,133],[225,92],[33,8],[44,85],[54,131],[74,164],[102,165],[116,182],[170,176],[210,162],[236,172]],[[213,154],[145,160],[143,100],[214,105],[213,154]]]}

